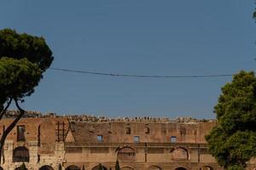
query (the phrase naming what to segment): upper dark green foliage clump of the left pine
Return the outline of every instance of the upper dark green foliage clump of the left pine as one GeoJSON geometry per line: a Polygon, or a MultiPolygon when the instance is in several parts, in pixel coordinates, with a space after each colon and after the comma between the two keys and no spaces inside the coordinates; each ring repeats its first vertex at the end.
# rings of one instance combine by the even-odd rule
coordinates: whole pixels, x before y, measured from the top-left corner
{"type": "Polygon", "coordinates": [[[26,33],[18,34],[11,29],[0,31],[0,58],[26,58],[39,66],[42,71],[53,61],[52,52],[43,37],[33,37],[26,33]]]}

